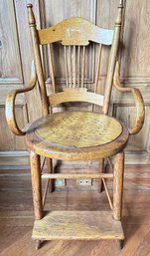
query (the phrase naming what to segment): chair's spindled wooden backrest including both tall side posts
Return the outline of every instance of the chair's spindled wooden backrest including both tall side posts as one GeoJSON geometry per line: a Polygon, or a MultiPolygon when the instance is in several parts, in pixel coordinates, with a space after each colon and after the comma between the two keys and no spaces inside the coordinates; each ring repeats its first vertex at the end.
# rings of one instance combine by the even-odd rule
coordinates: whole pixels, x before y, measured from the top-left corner
{"type": "Polygon", "coordinates": [[[102,107],[104,114],[108,113],[110,103],[114,68],[119,47],[122,1],[118,6],[114,30],[101,29],[82,18],[69,18],[50,28],[37,30],[32,4],[28,4],[28,19],[32,35],[36,73],[40,85],[43,114],[49,114],[49,106],[67,102],[87,102],[102,107]],[[66,73],[66,86],[64,92],[56,93],[54,74],[54,60],[52,44],[60,42],[64,47],[64,67],[66,73]],[[96,64],[94,92],[87,92],[84,87],[85,51],[90,43],[98,44],[98,58],[96,64]],[[48,46],[49,69],[51,73],[54,95],[47,96],[40,45],[48,46]],[[111,46],[104,96],[96,94],[102,45],[111,46]]]}

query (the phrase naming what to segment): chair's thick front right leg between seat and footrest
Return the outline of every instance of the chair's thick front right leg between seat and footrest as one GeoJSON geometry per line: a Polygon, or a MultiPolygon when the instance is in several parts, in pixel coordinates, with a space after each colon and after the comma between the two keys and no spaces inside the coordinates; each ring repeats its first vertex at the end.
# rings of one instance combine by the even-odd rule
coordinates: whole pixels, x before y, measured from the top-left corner
{"type": "Polygon", "coordinates": [[[124,152],[119,152],[114,158],[113,177],[113,218],[121,220],[122,215],[122,194],[124,174],[124,152]]]}

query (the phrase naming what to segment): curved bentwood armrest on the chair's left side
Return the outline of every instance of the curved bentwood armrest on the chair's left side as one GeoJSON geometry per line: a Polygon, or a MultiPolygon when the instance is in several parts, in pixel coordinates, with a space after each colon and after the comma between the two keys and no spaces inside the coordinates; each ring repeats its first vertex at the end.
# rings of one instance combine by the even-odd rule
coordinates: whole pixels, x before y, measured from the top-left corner
{"type": "Polygon", "coordinates": [[[29,87],[24,89],[19,89],[12,91],[6,98],[6,107],[5,107],[5,113],[6,113],[6,120],[8,127],[16,134],[16,135],[25,135],[26,132],[22,129],[20,129],[16,122],[15,117],[15,100],[16,96],[22,93],[29,92],[33,90],[36,86],[37,82],[37,76],[35,73],[35,66],[34,61],[32,61],[32,68],[31,68],[31,80],[29,82],[29,87]]]}

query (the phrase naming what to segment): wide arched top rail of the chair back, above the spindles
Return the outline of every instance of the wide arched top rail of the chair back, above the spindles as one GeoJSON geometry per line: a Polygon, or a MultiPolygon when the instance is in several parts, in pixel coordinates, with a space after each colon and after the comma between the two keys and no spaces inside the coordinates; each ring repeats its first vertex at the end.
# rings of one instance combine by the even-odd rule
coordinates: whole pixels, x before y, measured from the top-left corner
{"type": "Polygon", "coordinates": [[[85,46],[89,41],[111,45],[113,30],[96,27],[82,18],[69,18],[51,28],[38,31],[40,44],[61,41],[63,45],[85,46]]]}

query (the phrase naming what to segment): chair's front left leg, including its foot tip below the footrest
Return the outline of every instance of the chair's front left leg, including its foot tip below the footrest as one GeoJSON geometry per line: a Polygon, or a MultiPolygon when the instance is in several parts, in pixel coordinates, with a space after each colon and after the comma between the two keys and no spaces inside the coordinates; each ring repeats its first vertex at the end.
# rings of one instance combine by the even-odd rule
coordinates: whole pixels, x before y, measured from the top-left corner
{"type": "MultiPolygon", "coordinates": [[[[35,219],[39,220],[43,217],[40,155],[31,151],[30,162],[35,219]]],[[[36,240],[36,249],[40,248],[40,243],[36,240]]]]}

